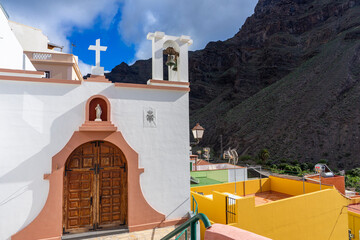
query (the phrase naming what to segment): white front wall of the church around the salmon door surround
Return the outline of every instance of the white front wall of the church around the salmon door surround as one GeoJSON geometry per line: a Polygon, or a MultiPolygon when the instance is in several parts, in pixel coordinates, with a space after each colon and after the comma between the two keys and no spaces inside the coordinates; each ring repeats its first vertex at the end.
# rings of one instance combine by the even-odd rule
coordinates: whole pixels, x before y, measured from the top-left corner
{"type": "Polygon", "coordinates": [[[81,85],[0,81],[0,239],[27,226],[48,195],[51,159],[85,120],[88,98],[101,94],[112,122],[139,154],[148,203],[167,219],[189,211],[188,93],[81,85]],[[157,127],[143,127],[143,109],[156,110],[157,127]]]}

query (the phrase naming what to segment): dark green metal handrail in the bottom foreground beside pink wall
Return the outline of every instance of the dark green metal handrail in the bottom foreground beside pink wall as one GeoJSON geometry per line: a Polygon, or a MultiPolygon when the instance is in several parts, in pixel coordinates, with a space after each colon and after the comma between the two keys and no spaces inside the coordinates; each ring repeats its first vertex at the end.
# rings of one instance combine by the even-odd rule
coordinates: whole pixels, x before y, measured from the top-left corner
{"type": "MultiPolygon", "coordinates": [[[[180,236],[183,233],[186,233],[186,238],[187,238],[188,227],[190,227],[190,239],[196,240],[196,223],[199,220],[201,220],[204,223],[205,228],[211,227],[211,223],[210,223],[209,219],[207,218],[207,216],[203,213],[199,213],[199,214],[196,214],[195,216],[193,216],[192,218],[190,218],[189,220],[187,220],[186,222],[184,222],[183,224],[181,224],[179,227],[175,228],[174,231],[170,232],[168,235],[163,237],[161,240],[171,239],[172,237],[175,237],[176,234],[179,234],[179,233],[181,233],[180,236]]],[[[180,236],[178,236],[178,238],[180,236]]]]}

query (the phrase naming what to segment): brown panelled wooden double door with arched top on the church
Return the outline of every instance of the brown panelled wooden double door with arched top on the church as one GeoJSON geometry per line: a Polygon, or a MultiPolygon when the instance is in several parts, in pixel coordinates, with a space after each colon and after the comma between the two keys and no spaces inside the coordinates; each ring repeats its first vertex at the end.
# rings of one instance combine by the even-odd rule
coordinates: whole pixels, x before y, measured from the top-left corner
{"type": "Polygon", "coordinates": [[[66,161],[63,186],[64,233],[128,224],[127,162],[115,145],[93,141],[77,147],[66,161]]]}

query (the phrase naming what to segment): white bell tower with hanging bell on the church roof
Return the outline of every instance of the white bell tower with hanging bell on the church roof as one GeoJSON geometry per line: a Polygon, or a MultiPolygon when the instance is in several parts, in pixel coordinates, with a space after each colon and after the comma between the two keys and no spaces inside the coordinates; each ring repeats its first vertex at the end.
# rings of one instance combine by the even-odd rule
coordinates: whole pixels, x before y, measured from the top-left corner
{"type": "Polygon", "coordinates": [[[189,82],[188,47],[193,43],[190,36],[165,35],[164,32],[148,33],[152,40],[152,79],[164,79],[163,55],[167,55],[169,81],[189,82]]]}

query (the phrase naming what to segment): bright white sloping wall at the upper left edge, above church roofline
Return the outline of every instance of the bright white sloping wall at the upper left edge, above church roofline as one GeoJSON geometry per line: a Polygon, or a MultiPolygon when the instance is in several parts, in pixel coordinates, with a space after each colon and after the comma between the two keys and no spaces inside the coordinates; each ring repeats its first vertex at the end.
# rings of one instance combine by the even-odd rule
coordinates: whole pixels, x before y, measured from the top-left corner
{"type": "Polygon", "coordinates": [[[0,10],[0,66],[1,68],[35,70],[11,31],[8,19],[0,10]]]}

